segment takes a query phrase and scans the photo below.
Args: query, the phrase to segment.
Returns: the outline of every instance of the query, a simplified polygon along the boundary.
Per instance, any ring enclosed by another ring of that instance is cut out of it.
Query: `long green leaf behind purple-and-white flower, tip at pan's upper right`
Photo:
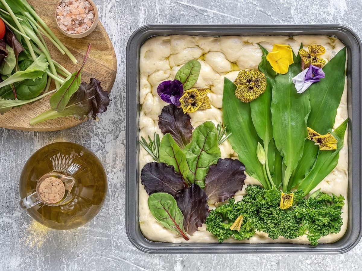
[[[337,108],[345,85],[346,47],[340,50],[324,67],[325,78],[308,88],[311,112],[307,126],[320,134],[331,132],[336,119]],[[299,182],[311,170],[318,154],[319,147],[313,141],[304,144],[303,156],[293,172],[289,189]]]

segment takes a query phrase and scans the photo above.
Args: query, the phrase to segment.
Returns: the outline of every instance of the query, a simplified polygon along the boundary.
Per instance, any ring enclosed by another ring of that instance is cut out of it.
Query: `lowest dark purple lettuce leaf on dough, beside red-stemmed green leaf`
[[[176,195],[177,206],[184,215],[185,231],[191,236],[209,215],[207,199],[205,191],[196,184],[182,189]]]

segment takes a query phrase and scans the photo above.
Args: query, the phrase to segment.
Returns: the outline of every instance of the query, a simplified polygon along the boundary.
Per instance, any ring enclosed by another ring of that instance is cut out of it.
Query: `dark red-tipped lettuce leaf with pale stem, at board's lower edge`
[[[74,116],[80,120],[89,116],[95,120],[98,113],[107,111],[110,101],[109,93],[102,89],[101,82],[90,78],[90,83],[82,82],[80,84],[78,91],[73,94],[63,112],[50,109],[30,120],[30,125],[68,116]]]

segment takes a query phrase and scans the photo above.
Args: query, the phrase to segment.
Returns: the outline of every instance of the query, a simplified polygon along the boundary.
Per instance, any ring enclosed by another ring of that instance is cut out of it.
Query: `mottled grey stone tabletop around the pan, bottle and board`
[[[361,270],[362,245],[343,255],[149,255],[125,232],[126,43],[149,23],[338,23],[362,35],[360,0],[94,0],[118,57],[109,110],[100,122],[65,131],[0,128],[0,270]],[[92,150],[109,194],[97,217],[72,231],[35,223],[18,207],[18,179],[29,156],[54,141]]]

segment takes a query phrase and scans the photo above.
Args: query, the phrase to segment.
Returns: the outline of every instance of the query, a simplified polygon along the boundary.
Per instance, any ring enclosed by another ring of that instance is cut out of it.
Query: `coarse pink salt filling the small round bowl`
[[[88,0],[63,0],[56,9],[58,24],[69,34],[87,31],[94,22],[93,7]]]

